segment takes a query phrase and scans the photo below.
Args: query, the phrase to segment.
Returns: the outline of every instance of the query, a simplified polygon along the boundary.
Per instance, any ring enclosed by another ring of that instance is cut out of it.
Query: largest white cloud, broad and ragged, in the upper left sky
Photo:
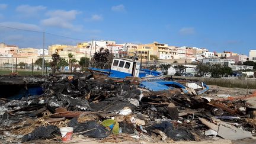
[[[76,15],[78,15],[80,13],[81,12],[76,11],[76,10],[49,11],[46,13],[46,15],[49,16],[49,18],[41,20],[41,24],[44,26],[50,26],[50,27],[60,27],[60,28],[68,28],[68,29],[72,29],[72,30],[78,30],[79,27],[77,25],[73,25],[72,21],[75,20]]]

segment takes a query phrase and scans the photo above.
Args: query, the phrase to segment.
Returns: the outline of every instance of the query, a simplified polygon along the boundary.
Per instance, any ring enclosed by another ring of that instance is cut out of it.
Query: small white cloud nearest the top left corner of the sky
[[[16,8],[16,11],[29,16],[29,15],[36,15],[37,12],[42,11],[44,9],[46,9],[46,7],[42,5],[38,5],[38,6],[20,5]]]

